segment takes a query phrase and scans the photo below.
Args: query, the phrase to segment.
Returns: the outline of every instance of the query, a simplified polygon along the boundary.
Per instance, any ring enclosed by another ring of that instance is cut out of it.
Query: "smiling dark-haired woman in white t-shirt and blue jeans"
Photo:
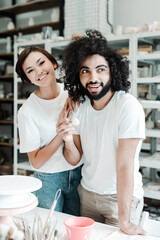
[[[24,49],[19,56],[17,74],[23,83],[37,86],[18,111],[20,152],[27,153],[34,176],[42,181],[42,188],[36,192],[38,206],[50,208],[60,188],[56,210],[78,216],[81,163],[75,167],[67,163],[62,154],[63,140],[56,134],[56,123],[68,97],[63,84],[56,80],[57,67],[55,58],[37,46]],[[72,131],[70,125],[68,131]]]

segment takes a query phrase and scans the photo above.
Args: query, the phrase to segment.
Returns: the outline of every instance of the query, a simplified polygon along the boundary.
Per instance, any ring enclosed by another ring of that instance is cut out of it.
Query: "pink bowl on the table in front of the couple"
[[[68,240],[89,240],[94,220],[87,217],[71,217],[64,221]]]

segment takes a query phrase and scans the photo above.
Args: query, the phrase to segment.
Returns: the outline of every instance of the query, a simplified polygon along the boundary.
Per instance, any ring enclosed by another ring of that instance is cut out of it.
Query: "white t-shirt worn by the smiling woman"
[[[67,91],[59,84],[60,94],[55,99],[44,100],[32,93],[18,111],[20,152],[27,153],[48,145],[57,135],[56,124],[64,106]],[[54,155],[38,169],[39,172],[55,173],[74,169],[63,156],[63,144]],[[33,168],[34,169],[34,168]],[[36,170],[36,169],[34,169]]]

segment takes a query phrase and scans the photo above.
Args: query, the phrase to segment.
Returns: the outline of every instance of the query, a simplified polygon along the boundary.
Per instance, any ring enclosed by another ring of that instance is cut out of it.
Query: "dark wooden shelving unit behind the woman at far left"
[[[45,10],[45,9],[52,9],[58,7],[59,8],[59,21],[52,22],[50,20],[50,16],[48,17],[48,22],[42,22],[40,24],[36,24],[33,26],[22,26],[22,27],[17,27],[16,26],[16,20],[17,16],[23,13],[31,13],[34,14],[34,11],[37,10]],[[0,62],[3,62],[6,64],[6,62],[9,62],[13,65],[13,58],[15,54],[13,53],[13,42],[15,36],[18,36],[19,33],[23,35],[29,35],[29,34],[35,34],[35,33],[41,33],[42,27],[44,26],[50,26],[52,27],[53,30],[58,30],[59,35],[63,36],[63,28],[64,28],[64,14],[63,14],[63,7],[64,7],[64,0],[35,0],[32,2],[26,2],[23,4],[16,4],[16,0],[12,0],[12,6],[11,7],[6,7],[6,8],[1,8],[0,9],[0,20],[3,21],[4,17],[9,18],[12,20],[15,24],[15,28],[12,30],[7,30],[5,29],[4,31],[0,32],[0,38],[1,39],[6,39],[7,37],[11,38],[11,51],[8,52],[7,48],[4,50],[4,52],[0,53]],[[6,41],[6,40],[4,40]],[[43,42],[43,40],[42,40]],[[27,43],[28,45],[28,43]],[[46,46],[47,48],[47,46]],[[15,61],[14,61],[15,62]],[[2,64],[1,64],[2,66]],[[1,66],[0,66],[0,84],[4,84],[6,86],[7,91],[10,92],[15,92],[17,90],[14,89],[14,79],[15,76],[13,74],[7,74],[4,71],[1,71]],[[9,90],[8,90],[9,89]],[[17,95],[16,95],[17,96]],[[9,142],[1,142],[0,140],[0,153],[1,151],[4,152],[4,155],[6,157],[5,163],[7,167],[5,168],[4,166],[0,165],[0,174],[12,174],[13,173],[13,161],[15,157],[13,157],[13,146],[16,144],[17,145],[17,138],[16,140],[13,140],[13,126],[15,123],[15,120],[10,119],[8,117],[13,116],[13,105],[15,108],[14,104],[14,99],[12,97],[7,97],[7,92],[5,96],[2,96],[0,98],[0,110],[4,110],[9,112],[6,117],[1,117],[2,114],[0,114],[0,137],[1,135],[5,136],[7,135],[9,137]],[[22,104],[24,99],[16,101],[16,104]],[[6,110],[7,109],[7,110]],[[8,110],[9,109],[9,110]],[[15,111],[14,111],[15,113]],[[16,125],[16,124],[15,124]],[[2,130],[1,130],[2,129]],[[4,139],[3,139],[4,140]],[[5,139],[8,141],[8,138]],[[14,142],[14,144],[13,144]],[[16,146],[15,146],[16,147]],[[14,158],[14,159],[13,159]]]

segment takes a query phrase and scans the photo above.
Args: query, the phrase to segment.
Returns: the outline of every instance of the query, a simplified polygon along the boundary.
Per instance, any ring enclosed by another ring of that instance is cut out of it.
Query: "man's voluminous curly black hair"
[[[109,64],[111,74],[111,89],[113,91],[130,88],[129,61],[116,50],[108,46],[105,37],[99,31],[86,30],[86,36],[76,38],[63,52],[62,71],[64,71],[64,87],[74,101],[85,100],[85,93],[80,83],[79,70],[82,62],[91,55],[103,56]]]

